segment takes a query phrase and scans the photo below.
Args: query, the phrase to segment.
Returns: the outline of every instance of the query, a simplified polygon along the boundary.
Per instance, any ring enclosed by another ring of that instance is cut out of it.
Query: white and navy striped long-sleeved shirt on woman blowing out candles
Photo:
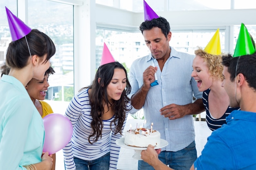
[[[128,103],[126,107],[131,108],[132,106]],[[115,135],[115,125],[113,123],[110,125],[115,116],[109,120],[103,120],[102,137],[99,137],[98,141],[93,144],[88,141],[88,137],[93,131],[91,128],[92,116],[88,88],[73,97],[67,107],[65,116],[70,119],[73,125],[72,139],[63,148],[66,170],[76,169],[74,157],[91,161],[106,155],[108,152],[110,152],[109,169],[116,170],[120,147],[117,146],[115,141],[121,138],[121,134],[117,133]],[[127,116],[128,112],[126,113],[123,128],[126,124]]]

